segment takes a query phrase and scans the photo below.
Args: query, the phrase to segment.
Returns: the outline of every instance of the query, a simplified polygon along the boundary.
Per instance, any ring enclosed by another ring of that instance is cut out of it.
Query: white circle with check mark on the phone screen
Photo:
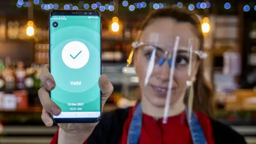
[[[69,68],[84,67],[89,61],[89,57],[90,53],[87,46],[78,41],[69,42],[62,50],[62,60]]]

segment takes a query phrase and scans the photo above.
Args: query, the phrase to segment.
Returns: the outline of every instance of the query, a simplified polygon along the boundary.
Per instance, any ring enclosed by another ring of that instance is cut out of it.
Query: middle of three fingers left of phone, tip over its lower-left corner
[[[43,108],[50,114],[54,116],[58,116],[61,113],[61,109],[58,105],[56,105],[50,98],[49,91],[43,86],[38,91],[38,97]]]

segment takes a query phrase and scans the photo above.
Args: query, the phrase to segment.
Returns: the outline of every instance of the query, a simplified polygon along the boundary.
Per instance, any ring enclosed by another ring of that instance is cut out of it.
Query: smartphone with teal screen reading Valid
[[[101,116],[101,14],[57,10],[50,14],[51,99],[61,108],[55,123],[96,123]]]

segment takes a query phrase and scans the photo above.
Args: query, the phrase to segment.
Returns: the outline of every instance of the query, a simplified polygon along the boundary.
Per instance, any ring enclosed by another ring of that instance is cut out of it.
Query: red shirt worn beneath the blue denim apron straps
[[[196,113],[198,121],[202,127],[205,135],[205,139],[208,144],[214,144],[212,127],[210,119],[207,118],[201,112]],[[127,117],[124,127],[123,135],[119,144],[127,144],[127,134],[130,127],[130,122],[133,116],[133,109],[131,108],[129,116]],[[55,133],[50,144],[57,144],[58,142],[58,131]],[[85,142],[86,143],[86,142]],[[162,123],[162,119],[156,121],[153,117],[143,114],[142,117],[142,130],[140,135],[140,140],[138,144],[169,144],[169,143],[179,143],[179,144],[193,144],[191,139],[189,126],[186,121],[185,111],[177,116],[169,117],[167,124]]]

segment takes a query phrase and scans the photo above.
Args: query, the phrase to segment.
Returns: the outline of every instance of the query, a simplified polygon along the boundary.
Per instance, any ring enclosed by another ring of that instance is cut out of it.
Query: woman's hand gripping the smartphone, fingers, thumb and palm
[[[45,65],[41,71],[41,82],[44,85],[39,91],[38,96],[43,106],[42,111],[42,120],[47,127],[53,125],[53,120],[50,116],[58,116],[61,113],[61,109],[56,105],[50,98],[49,91],[52,91],[55,88],[55,81],[49,71],[49,65]],[[90,83],[90,82],[88,82]],[[109,98],[110,94],[113,92],[113,85],[108,81],[106,75],[102,75],[99,78],[99,87],[101,90],[101,105],[102,108],[105,105],[105,102]],[[70,95],[71,96],[71,95]],[[77,132],[90,131],[94,129],[97,123],[85,123],[85,124],[58,124],[61,129],[65,131],[74,130]]]

